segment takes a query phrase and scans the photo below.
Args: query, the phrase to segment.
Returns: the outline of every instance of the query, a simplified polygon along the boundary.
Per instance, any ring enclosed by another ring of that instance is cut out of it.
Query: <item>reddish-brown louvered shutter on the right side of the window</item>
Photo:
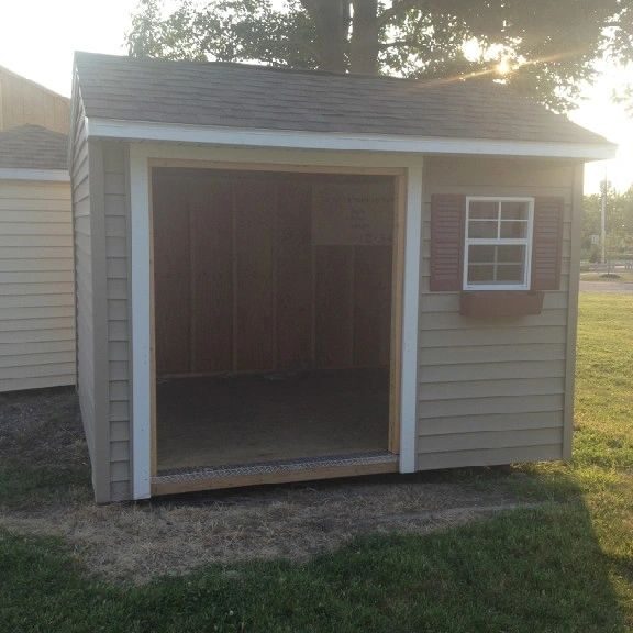
[[[534,200],[532,290],[558,290],[563,260],[563,198]]]

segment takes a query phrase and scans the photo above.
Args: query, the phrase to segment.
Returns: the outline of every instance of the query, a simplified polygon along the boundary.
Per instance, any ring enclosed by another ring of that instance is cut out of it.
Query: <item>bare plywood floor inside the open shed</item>
[[[158,471],[387,451],[385,369],[157,385]]]

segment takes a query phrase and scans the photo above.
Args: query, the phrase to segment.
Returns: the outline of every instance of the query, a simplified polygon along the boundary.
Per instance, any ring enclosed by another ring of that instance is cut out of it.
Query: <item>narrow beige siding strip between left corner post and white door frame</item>
[[[127,148],[103,144],[108,303],[108,422],[112,501],[132,495]]]

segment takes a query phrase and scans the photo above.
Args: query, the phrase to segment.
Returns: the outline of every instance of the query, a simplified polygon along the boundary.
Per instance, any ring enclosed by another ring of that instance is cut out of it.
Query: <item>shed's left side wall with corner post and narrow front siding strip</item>
[[[127,149],[87,141],[74,101],[77,388],[98,502],[130,499]]]

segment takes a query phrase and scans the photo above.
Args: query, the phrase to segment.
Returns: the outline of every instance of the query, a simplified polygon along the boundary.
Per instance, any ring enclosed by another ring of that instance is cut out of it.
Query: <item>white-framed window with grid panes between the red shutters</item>
[[[533,198],[466,198],[464,290],[528,290]]]

